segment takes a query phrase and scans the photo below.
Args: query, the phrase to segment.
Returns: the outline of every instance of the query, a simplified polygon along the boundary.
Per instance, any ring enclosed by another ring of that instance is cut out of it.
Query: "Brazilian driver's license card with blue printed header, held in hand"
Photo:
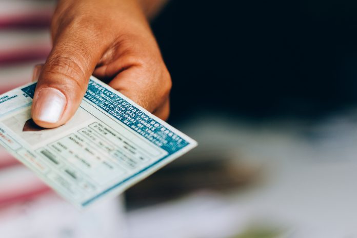
[[[197,145],[95,77],[67,124],[38,127],[35,87],[0,95],[0,145],[77,207],[123,192]]]

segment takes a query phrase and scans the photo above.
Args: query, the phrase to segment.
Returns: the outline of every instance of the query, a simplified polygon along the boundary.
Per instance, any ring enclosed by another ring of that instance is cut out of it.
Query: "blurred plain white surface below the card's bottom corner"
[[[127,237],[119,200],[79,212],[53,193],[2,208],[0,234],[4,238]]]

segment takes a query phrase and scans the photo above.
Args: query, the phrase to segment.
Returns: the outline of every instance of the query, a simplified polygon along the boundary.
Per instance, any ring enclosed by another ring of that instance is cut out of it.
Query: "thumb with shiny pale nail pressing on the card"
[[[57,37],[33,96],[31,114],[38,126],[54,128],[70,120],[102,54],[93,37],[78,31],[69,30]]]

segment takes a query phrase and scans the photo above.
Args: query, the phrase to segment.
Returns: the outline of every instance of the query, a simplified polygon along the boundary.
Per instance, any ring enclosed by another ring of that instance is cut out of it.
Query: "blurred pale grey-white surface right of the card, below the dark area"
[[[182,128],[200,143],[195,153],[236,153],[261,166],[261,182],[130,212],[130,237],[230,237],[255,221],[285,230],[284,237],[357,237],[356,118],[351,112],[314,125],[197,120]]]

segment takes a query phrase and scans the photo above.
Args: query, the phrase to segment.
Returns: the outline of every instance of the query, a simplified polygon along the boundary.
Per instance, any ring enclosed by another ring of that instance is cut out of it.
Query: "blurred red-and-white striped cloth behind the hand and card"
[[[31,81],[35,64],[45,61],[53,1],[0,2],[0,93]],[[49,188],[0,148],[0,206],[29,199]]]

